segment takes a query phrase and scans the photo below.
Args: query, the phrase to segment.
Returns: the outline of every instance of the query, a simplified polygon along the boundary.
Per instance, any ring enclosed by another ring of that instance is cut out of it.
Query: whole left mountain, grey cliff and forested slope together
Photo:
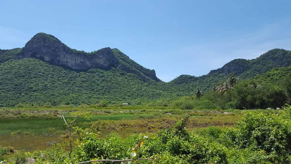
[[[77,51],[38,33],[22,49],[0,50],[0,106],[145,102],[166,96],[155,70],[118,49]]]

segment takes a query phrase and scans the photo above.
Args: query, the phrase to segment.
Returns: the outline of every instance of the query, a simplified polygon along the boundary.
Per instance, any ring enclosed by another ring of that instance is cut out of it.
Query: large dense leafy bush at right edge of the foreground
[[[270,162],[286,163],[291,150],[289,107],[283,114],[247,113],[236,125],[219,135],[227,147],[262,150]]]

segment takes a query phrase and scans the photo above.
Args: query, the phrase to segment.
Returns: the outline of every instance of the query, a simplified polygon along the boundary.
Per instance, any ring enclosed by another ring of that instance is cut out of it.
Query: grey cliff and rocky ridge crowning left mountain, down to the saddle
[[[78,51],[69,48],[55,36],[45,33],[33,36],[19,51],[16,60],[35,58],[71,70],[88,70],[90,68],[109,70],[114,67],[121,74],[122,72],[134,73],[142,80],[159,81],[155,70],[142,67],[117,49],[107,47],[91,53]]]

